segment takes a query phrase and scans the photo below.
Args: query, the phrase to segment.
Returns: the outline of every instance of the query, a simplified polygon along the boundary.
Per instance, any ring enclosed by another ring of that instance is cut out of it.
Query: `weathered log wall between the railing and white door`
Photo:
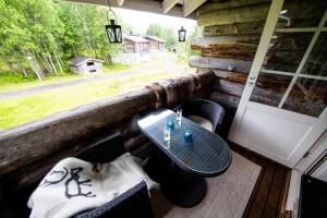
[[[226,135],[239,106],[269,5],[270,0],[229,0],[207,2],[197,10],[203,37],[194,38],[191,48],[199,50],[201,55],[191,57],[189,63],[198,68],[198,73],[215,73],[209,99],[226,110]]]

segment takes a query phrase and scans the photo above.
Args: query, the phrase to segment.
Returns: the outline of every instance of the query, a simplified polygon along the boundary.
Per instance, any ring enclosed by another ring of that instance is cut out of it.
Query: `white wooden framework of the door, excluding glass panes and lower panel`
[[[275,29],[275,26],[278,22],[279,13],[280,13],[282,5],[283,5],[283,0],[272,0],[272,2],[271,2],[269,13],[268,13],[268,16],[266,20],[266,24],[265,24],[265,27],[264,27],[264,31],[262,34],[262,38],[261,38],[261,41],[259,41],[250,74],[249,74],[249,77],[247,77],[247,81],[245,83],[245,87],[242,93],[242,97],[241,97],[237,113],[234,116],[234,120],[233,120],[232,126],[230,129],[228,138],[231,141],[233,141],[233,138],[237,138],[237,130],[238,130],[238,128],[240,128],[242,120],[243,120],[244,112],[245,112],[246,108],[249,108],[249,107],[256,108],[258,110],[262,109],[262,110],[265,110],[265,112],[272,113],[276,116],[281,116],[281,117],[286,116],[288,118],[292,118],[300,122],[310,124],[311,125],[310,130],[305,133],[305,135],[302,137],[302,141],[300,141],[298,146],[288,156],[288,158],[286,158],[286,159],[280,159],[278,157],[275,158],[283,165],[293,167],[303,157],[303,155],[310,149],[310,147],[316,142],[316,140],[324,133],[324,131],[327,129],[327,108],[325,108],[325,110],[319,116],[319,118],[314,118],[314,117],[301,114],[298,112],[288,111],[288,110],[284,110],[281,108],[282,104],[284,102],[286,98],[288,97],[288,95],[289,95],[291,88],[293,87],[298,77],[307,77],[307,78],[315,78],[315,80],[323,80],[323,81],[327,80],[326,76],[301,74],[301,70],[303,69],[304,63],[307,60],[307,57],[311,53],[319,34],[322,32],[327,31],[327,28],[324,27],[324,24],[327,20],[327,11],[325,11],[325,14],[324,14],[318,27]],[[279,33],[314,32],[312,40],[303,56],[302,61],[300,62],[295,73],[262,69],[262,64],[263,64],[266,53],[269,49],[270,39],[271,39],[275,31],[279,32]],[[251,94],[253,92],[255,82],[256,82],[259,73],[274,73],[274,74],[293,76],[291,80],[291,83],[289,84],[289,87],[287,88],[287,92],[283,95],[282,100],[280,101],[280,104],[277,108],[250,101]],[[253,147],[252,145],[246,145],[246,147],[249,147],[250,149],[259,152],[261,154],[267,155],[268,157],[274,156],[274,154],[269,154],[268,150],[264,150],[258,147]]]

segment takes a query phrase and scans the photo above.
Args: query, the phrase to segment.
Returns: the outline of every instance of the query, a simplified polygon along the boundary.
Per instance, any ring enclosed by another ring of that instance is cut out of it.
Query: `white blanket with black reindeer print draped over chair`
[[[156,185],[126,153],[112,162],[99,165],[73,157],[58,162],[28,199],[31,217],[71,217],[96,208],[145,181]]]

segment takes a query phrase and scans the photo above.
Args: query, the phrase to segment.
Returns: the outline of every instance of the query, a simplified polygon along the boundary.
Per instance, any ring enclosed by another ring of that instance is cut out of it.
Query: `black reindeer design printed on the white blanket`
[[[93,194],[92,192],[83,193],[82,185],[84,186],[93,186],[90,183],[90,179],[81,180],[80,172],[83,171],[83,167],[76,167],[76,168],[65,168],[62,167],[62,170],[52,170],[43,181],[43,183],[39,185],[40,187],[47,187],[49,185],[56,185],[60,182],[64,181],[64,195],[66,198],[72,198],[76,196],[84,196],[84,197],[95,197],[96,194]],[[51,180],[51,177],[56,177],[58,174],[61,174],[59,179]]]

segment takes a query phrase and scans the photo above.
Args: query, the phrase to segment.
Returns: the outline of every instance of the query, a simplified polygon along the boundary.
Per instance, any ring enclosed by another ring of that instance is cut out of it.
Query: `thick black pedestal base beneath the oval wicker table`
[[[193,207],[205,197],[206,181],[182,170],[160,152],[149,159],[147,169],[149,177],[160,183],[162,193],[177,206]]]

